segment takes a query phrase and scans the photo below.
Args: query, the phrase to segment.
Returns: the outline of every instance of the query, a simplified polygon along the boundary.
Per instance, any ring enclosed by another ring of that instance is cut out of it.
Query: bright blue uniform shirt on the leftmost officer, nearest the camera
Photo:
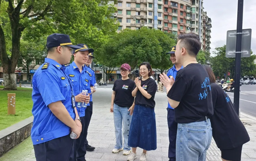
[[[72,84],[69,83],[64,72],[66,67],[49,58],[45,58],[44,61],[45,63],[37,69],[32,79],[33,145],[70,133],[70,127],[61,122],[49,109],[50,103],[61,101],[73,119],[76,115],[71,102]]]

